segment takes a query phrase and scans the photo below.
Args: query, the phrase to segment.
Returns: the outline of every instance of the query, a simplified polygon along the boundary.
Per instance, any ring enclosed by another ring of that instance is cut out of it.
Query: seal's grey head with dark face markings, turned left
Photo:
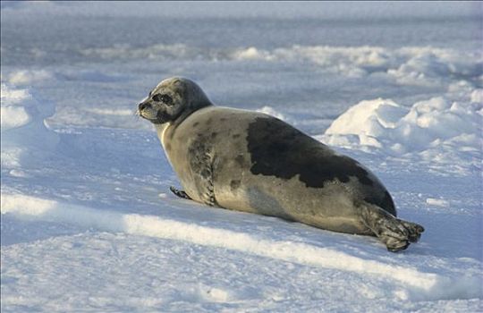
[[[161,81],[138,105],[140,116],[154,124],[181,123],[191,113],[212,106],[192,80],[174,77]]]

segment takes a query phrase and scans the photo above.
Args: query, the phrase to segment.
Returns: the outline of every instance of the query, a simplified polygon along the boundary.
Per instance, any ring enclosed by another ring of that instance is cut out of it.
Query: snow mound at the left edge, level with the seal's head
[[[46,157],[59,140],[44,122],[55,106],[38,102],[28,89],[2,84],[1,94],[2,167]]]

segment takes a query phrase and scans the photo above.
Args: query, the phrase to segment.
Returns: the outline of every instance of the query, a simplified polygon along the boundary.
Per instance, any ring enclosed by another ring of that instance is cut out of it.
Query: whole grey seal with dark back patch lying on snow
[[[424,231],[396,217],[389,192],[351,157],[273,116],[214,106],[191,80],[161,81],[138,111],[155,125],[182,198],[375,235],[390,251]]]

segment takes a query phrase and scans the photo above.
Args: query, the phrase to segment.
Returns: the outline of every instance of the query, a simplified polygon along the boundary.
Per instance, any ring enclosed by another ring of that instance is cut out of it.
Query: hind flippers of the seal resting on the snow
[[[424,232],[423,226],[396,218],[381,207],[365,201],[359,207],[362,223],[386,244],[389,251],[405,250],[411,242],[417,242]]]

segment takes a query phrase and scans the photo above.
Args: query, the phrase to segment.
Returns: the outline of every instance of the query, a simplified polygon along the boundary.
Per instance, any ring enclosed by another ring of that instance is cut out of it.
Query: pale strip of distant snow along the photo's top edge
[[[69,3],[56,1],[38,1],[30,5],[21,5],[14,1],[2,2],[2,9],[20,11],[24,14],[49,14],[67,16],[103,16],[103,17],[174,17],[174,18],[292,18],[301,16],[305,18],[323,18],[324,20],[347,19],[391,19],[391,18],[414,18],[414,17],[448,17],[448,16],[475,16],[479,10],[478,4],[421,4],[418,10],[414,10],[411,4],[367,4],[355,6],[347,4],[142,4],[140,1],[130,1],[116,5],[94,3]]]

